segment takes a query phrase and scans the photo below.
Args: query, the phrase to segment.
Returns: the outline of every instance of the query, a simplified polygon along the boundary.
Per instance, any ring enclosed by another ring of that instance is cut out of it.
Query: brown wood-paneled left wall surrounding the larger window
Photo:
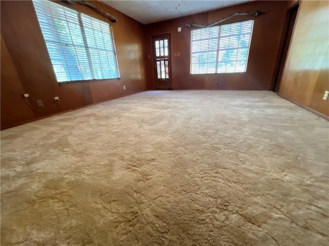
[[[118,18],[113,32],[121,79],[59,86],[32,1],[0,3],[1,129],[147,89],[142,56],[143,25],[132,18],[94,1],[94,5]],[[88,7],[75,4],[74,8],[108,21]],[[45,108],[29,108],[22,97],[24,93],[30,94],[32,106],[37,107],[36,100],[41,99]],[[54,96],[60,97],[60,104],[54,103]]]

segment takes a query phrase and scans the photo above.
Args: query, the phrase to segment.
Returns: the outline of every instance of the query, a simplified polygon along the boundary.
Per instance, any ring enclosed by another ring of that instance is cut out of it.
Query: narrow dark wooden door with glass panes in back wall
[[[155,89],[171,90],[170,34],[155,36],[152,43]]]

